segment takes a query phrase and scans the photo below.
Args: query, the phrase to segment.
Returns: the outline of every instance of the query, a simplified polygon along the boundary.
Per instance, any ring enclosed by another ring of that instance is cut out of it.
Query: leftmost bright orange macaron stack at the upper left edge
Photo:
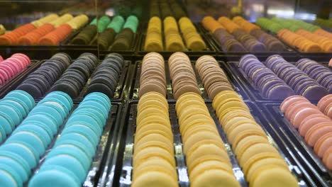
[[[32,23],[27,23],[23,26],[20,26],[9,33],[5,33],[4,35],[0,35],[0,45],[15,45],[18,42],[18,38],[27,33],[35,30],[35,27]]]

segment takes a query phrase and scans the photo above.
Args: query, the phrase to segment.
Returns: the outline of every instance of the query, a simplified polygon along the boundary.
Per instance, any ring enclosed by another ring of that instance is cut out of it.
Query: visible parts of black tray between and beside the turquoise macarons
[[[74,105],[71,113],[74,111],[75,108],[77,108],[77,104]],[[100,176],[104,174],[104,168],[106,168],[106,163],[108,163],[108,159],[113,157],[114,152],[114,140],[116,140],[116,129],[118,129],[118,122],[121,117],[121,103],[112,103],[111,111],[109,113],[109,118],[106,121],[106,125],[104,126],[104,131],[101,135],[99,144],[96,149],[96,154],[94,155],[92,165],[90,166],[90,169],[87,173],[87,178],[85,179],[84,183],[82,184],[83,187],[93,187],[96,186],[97,183],[99,183]],[[68,115],[68,118],[69,116]],[[67,119],[68,119],[67,118]],[[67,121],[65,120],[65,123]],[[60,130],[58,131],[58,134],[55,135],[52,142],[46,149],[45,154],[40,157],[40,161],[38,166],[33,169],[33,173],[35,174],[38,172],[38,169],[45,161],[46,156],[48,153],[52,150],[53,145],[55,145],[55,142],[57,140],[57,137],[61,135],[62,129],[65,127],[65,123],[60,126]],[[31,175],[32,176],[32,175]],[[29,179],[30,180],[30,179]],[[28,181],[23,185],[25,187],[28,186]]]

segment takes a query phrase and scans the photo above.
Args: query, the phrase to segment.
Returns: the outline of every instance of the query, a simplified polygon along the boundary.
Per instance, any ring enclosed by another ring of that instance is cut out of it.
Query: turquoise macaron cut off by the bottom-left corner
[[[0,184],[6,187],[21,187],[23,179],[11,166],[0,164]]]

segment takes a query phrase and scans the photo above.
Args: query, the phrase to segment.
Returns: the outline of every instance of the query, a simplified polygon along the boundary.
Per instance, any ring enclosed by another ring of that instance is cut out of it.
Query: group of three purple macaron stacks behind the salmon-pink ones
[[[283,100],[297,94],[319,101],[332,91],[331,70],[313,60],[291,64],[272,55],[262,63],[254,55],[245,55],[239,66],[264,98]]]

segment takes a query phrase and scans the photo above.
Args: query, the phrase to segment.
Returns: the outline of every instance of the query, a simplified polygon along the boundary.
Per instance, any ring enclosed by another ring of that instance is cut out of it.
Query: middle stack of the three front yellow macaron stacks
[[[204,99],[182,94],[175,105],[190,186],[240,186]]]

